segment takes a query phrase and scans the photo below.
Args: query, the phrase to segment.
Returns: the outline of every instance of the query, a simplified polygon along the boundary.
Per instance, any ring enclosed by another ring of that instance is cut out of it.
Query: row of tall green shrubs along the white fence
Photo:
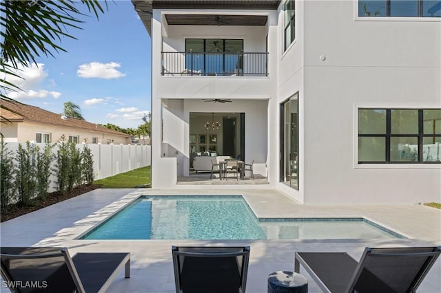
[[[44,149],[26,142],[17,151],[8,150],[1,138],[1,211],[11,204],[33,205],[34,199],[45,197],[50,176],[55,175],[57,190],[64,194],[83,184],[92,184],[93,156],[87,144],[80,150],[65,136],[56,144],[45,144]],[[52,149],[57,146],[57,154]],[[51,168],[51,166],[53,166]]]

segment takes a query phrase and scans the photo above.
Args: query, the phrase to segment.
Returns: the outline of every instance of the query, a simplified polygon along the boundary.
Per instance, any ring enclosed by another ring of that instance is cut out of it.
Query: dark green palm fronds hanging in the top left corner
[[[6,80],[6,76],[20,77],[13,69],[37,63],[35,58],[42,54],[66,51],[59,45],[62,37],[75,39],[69,30],[81,29],[83,23],[79,16],[85,14],[78,5],[85,5],[97,19],[104,12],[98,0],[0,1],[0,76],[5,76],[0,78],[0,98],[12,100],[7,93],[21,90]]]

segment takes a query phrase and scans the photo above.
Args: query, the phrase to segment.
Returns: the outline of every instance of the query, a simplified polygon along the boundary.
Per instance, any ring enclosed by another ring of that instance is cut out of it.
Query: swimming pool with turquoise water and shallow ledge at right
[[[391,239],[364,218],[258,219],[241,196],[142,196],[81,239]]]

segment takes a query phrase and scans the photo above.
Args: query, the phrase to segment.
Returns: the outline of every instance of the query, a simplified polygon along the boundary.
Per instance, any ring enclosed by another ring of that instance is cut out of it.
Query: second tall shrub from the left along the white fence
[[[36,189],[36,168],[35,168],[35,150],[26,142],[26,148],[19,144],[16,155],[17,166],[15,168],[15,182],[18,188],[19,202],[29,205],[35,196]]]

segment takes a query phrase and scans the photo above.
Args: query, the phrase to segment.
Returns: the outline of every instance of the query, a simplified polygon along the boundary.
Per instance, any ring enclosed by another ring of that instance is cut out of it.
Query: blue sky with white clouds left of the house
[[[88,122],[134,129],[143,124],[151,109],[151,39],[130,0],[107,6],[98,20],[93,12],[81,17],[82,30],[68,28],[76,40],[61,39],[67,53],[36,58],[21,71],[25,80],[7,78],[25,90],[8,96],[54,113],[73,102]]]

